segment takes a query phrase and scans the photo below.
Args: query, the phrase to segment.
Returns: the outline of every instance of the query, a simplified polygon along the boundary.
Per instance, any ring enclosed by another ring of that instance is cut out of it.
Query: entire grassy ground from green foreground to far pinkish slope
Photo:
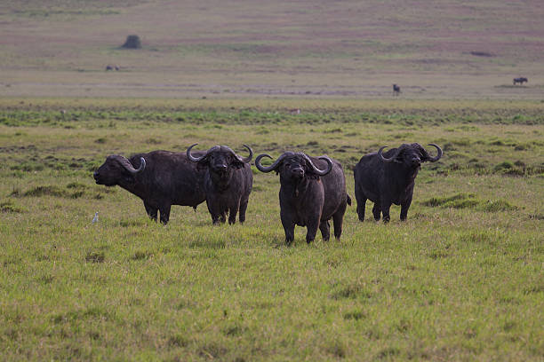
[[[0,360],[543,361],[542,19],[541,0],[0,2]],[[408,142],[444,149],[408,221],[360,223],[353,166]],[[339,160],[341,240],[285,246],[256,169],[246,223],[219,227],[205,205],[156,224],[92,179],[194,143]]]

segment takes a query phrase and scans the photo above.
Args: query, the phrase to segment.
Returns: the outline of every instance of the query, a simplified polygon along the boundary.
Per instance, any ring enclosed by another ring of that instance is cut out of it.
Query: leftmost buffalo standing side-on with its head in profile
[[[168,224],[172,205],[196,209],[204,202],[204,173],[185,153],[153,151],[130,159],[109,155],[93,177],[98,185],[119,185],[140,197],[149,217],[156,221],[160,211],[161,223]]]

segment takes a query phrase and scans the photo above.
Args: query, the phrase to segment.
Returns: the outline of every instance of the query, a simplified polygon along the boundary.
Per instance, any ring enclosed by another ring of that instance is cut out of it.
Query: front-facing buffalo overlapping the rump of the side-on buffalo
[[[224,224],[227,214],[228,224],[235,224],[238,212],[240,223],[244,223],[253,185],[252,148],[244,145],[250,153],[245,158],[228,146],[213,146],[204,154],[195,156],[191,149],[196,145],[188,147],[187,157],[199,169],[204,169],[204,193],[212,224]]]

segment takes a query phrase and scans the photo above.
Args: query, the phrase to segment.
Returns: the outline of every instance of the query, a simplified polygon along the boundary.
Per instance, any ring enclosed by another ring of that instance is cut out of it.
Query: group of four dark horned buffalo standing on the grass
[[[144,203],[148,216],[154,220],[160,212],[160,221],[167,224],[172,205],[190,206],[194,209],[206,201],[212,224],[240,223],[245,221],[250,193],[252,192],[251,161],[253,150],[242,157],[228,146],[213,146],[207,151],[185,153],[153,151],[138,153],[131,158],[109,155],[93,177],[98,185],[119,185],[133,193]],[[389,221],[391,204],[401,206],[400,219],[406,220],[412,203],[413,186],[422,162],[435,162],[443,155],[436,148],[431,156],[420,144],[403,144],[383,153],[364,155],[354,170],[357,215],[364,221],[367,200],[374,203],[372,214],[376,221]],[[280,178],[280,219],[284,226],[285,241],[294,239],[295,225],[306,226],[306,241],[315,240],[317,229],[323,240],[330,238],[332,219],[334,237],[340,240],[342,222],[351,198],[346,191],[346,177],[339,161],[323,155],[312,157],[302,152],[284,152],[270,166],[261,164],[267,153],[255,158],[261,172],[275,171]]]

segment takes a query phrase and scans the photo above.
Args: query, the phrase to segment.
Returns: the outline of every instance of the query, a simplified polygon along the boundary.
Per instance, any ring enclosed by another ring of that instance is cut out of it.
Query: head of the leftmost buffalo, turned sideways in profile
[[[140,157],[140,167],[134,169],[132,163],[123,156],[112,154],[94,171],[92,175],[98,185],[115,186],[134,182],[134,175],[140,174],[146,168],[146,160]]]

